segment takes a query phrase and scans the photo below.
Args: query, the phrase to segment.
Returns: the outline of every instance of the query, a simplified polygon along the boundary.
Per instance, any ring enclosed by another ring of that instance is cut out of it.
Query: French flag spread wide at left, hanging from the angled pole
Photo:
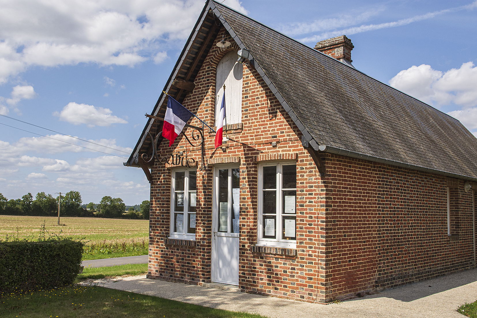
[[[192,113],[186,107],[179,104],[174,98],[169,96],[167,100],[166,116],[162,126],[162,136],[169,139],[169,147],[172,146],[177,135],[179,135],[192,117]]]

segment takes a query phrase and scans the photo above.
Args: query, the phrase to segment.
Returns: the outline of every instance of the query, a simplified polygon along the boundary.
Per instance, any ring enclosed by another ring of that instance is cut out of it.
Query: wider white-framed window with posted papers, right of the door
[[[259,165],[259,245],[296,247],[296,164]]]

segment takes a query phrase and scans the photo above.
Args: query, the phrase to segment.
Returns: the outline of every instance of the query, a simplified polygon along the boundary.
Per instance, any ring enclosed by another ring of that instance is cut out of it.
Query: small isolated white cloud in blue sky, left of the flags
[[[90,128],[94,126],[108,127],[111,124],[127,124],[127,121],[111,115],[112,113],[109,108],[71,102],[63,107],[61,113],[54,112],[53,116],[58,116],[60,120],[73,125],[86,124]]]

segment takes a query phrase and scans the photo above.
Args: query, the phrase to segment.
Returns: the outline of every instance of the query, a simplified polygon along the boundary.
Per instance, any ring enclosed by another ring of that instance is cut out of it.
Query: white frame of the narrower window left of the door
[[[197,178],[197,170],[196,169],[174,169],[171,171],[171,198],[170,198],[170,224],[169,224],[169,229],[170,229],[170,238],[178,238],[178,239],[183,239],[183,240],[191,240],[195,241],[196,240],[196,233],[187,233],[189,229],[189,217],[188,214],[196,214],[197,212],[189,212],[188,206],[189,206],[189,193],[191,192],[196,192],[196,207],[197,207],[197,190],[189,190],[189,172],[190,171],[195,171],[196,172],[196,178]],[[185,172],[184,173],[184,191],[176,191],[176,173],[177,172]],[[197,179],[196,179],[197,182]],[[197,183],[196,183],[197,185]],[[196,186],[197,189],[197,186]],[[175,208],[175,193],[176,192],[184,192],[184,211],[174,211]],[[186,195],[187,193],[187,195]],[[184,219],[183,219],[183,224],[182,224],[182,233],[180,232],[174,232],[174,222],[175,222],[175,214],[183,214]],[[197,214],[196,214],[197,216]],[[197,224],[197,219],[196,219],[196,224]],[[197,229],[197,225],[196,225]]]

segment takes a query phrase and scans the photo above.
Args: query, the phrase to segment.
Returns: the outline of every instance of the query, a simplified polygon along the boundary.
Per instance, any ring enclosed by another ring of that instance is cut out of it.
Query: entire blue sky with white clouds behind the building
[[[0,116],[0,193],[148,200],[143,171],[123,167],[121,157],[135,146],[204,1],[0,3],[0,114],[109,147]],[[224,4],[311,47],[347,35],[357,69],[477,135],[477,1]]]

